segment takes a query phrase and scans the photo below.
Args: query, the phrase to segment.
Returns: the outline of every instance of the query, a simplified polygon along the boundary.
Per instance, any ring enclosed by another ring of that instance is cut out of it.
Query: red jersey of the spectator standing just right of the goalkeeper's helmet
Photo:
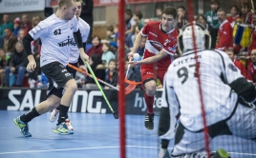
[[[227,20],[224,20],[218,30],[218,43],[215,49],[227,49],[233,47],[233,28]]]

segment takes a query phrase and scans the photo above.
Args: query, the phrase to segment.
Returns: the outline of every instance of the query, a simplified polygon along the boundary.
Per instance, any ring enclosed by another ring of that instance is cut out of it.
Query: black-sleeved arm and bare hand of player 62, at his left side
[[[28,33],[24,37],[24,39],[22,40],[23,46],[24,46],[24,50],[27,53],[28,60],[29,60],[29,64],[27,66],[27,70],[29,72],[32,72],[36,68],[36,62],[35,62],[34,57],[32,55],[32,46],[31,46],[31,43],[32,43],[33,40],[34,39],[32,38],[30,33]]]

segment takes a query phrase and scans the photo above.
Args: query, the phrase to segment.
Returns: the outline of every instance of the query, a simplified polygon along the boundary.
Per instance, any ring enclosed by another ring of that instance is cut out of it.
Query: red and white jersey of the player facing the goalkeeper
[[[147,36],[143,59],[154,56],[163,49],[170,55],[160,59],[155,66],[158,68],[166,68],[167,70],[174,59],[173,56],[178,47],[177,37],[179,33],[175,29],[165,32],[164,30],[161,30],[160,25],[160,21],[152,21],[142,28],[142,36]]]

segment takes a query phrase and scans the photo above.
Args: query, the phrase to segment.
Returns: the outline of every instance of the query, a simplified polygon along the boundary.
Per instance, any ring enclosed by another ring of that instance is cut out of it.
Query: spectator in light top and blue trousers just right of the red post
[[[135,28],[136,28],[136,22],[133,18],[132,10],[130,9],[125,10],[124,18],[125,18],[125,24],[126,24],[125,43],[127,47],[132,48],[134,46],[132,36],[134,35]]]

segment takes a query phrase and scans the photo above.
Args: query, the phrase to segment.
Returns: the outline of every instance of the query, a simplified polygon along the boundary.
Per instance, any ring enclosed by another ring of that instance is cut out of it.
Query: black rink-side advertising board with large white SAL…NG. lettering
[[[117,110],[117,90],[105,89],[106,97],[112,108]],[[146,113],[143,99],[144,91],[135,89],[125,96],[126,114]],[[158,115],[161,103],[161,91],[157,91],[154,103],[155,114]],[[46,89],[0,89],[1,110],[30,110],[46,99]],[[78,89],[70,107],[71,112],[112,113],[100,90]]]

